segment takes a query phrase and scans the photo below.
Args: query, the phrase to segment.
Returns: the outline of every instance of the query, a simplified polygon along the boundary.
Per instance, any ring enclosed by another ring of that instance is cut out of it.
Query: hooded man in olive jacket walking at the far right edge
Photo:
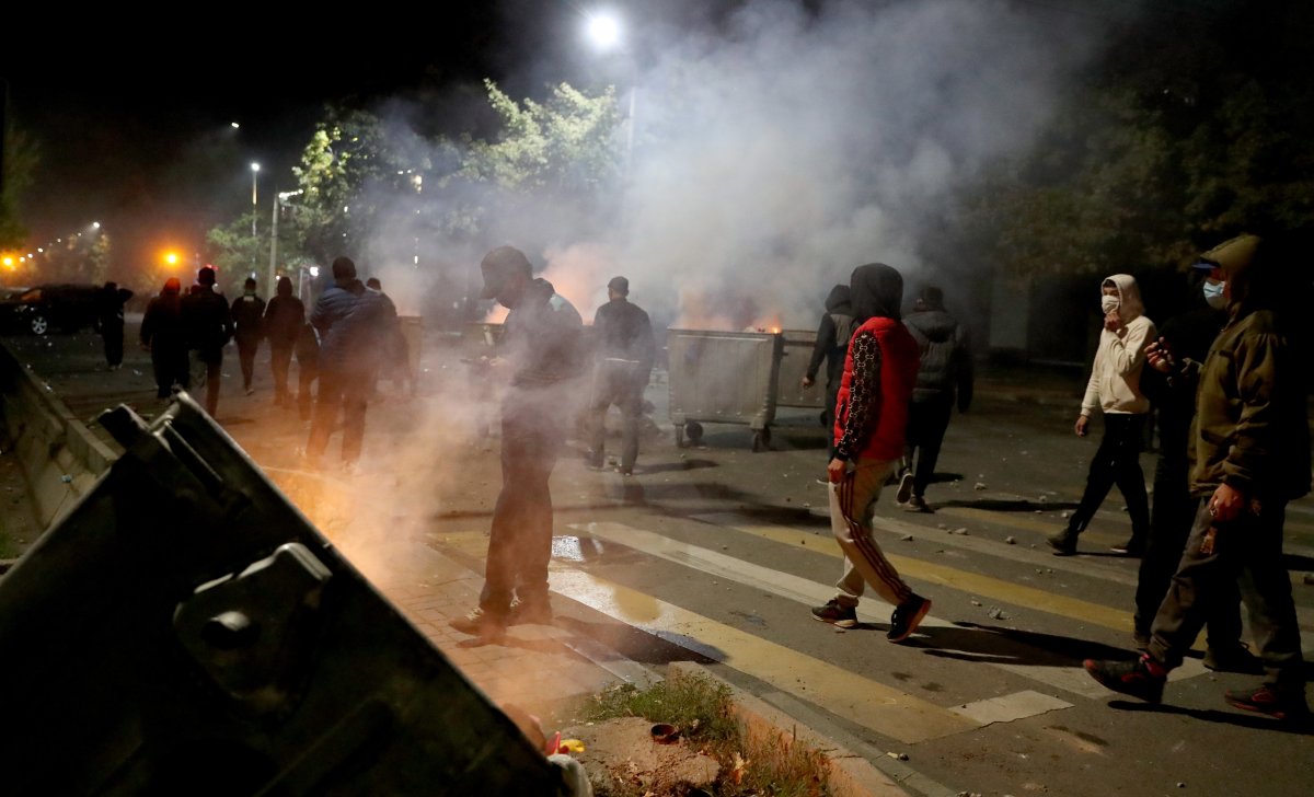
[[[1239,586],[1265,678],[1223,700],[1307,723],[1301,629],[1282,562],[1286,504],[1310,491],[1306,310],[1292,306],[1300,289],[1286,284],[1307,252],[1307,232],[1240,235],[1201,259],[1210,274],[1221,269],[1227,298],[1196,391],[1190,494],[1201,500],[1146,653],[1084,662],[1114,692],[1160,702],[1168,672]]]

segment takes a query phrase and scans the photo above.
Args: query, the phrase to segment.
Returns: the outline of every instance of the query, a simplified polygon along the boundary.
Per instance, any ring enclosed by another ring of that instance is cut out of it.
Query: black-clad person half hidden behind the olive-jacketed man
[[[1196,416],[1200,368],[1218,331],[1227,322],[1226,282],[1214,263],[1194,265],[1185,311],[1171,318],[1146,347],[1142,387],[1159,414],[1159,458],[1154,471],[1150,534],[1137,572],[1133,646],[1150,646],[1150,624],[1172,574],[1177,570],[1187,533],[1200,506],[1190,495],[1190,421]],[[1259,659],[1240,641],[1240,593],[1222,584],[1206,622],[1204,666],[1223,672],[1257,672]]]

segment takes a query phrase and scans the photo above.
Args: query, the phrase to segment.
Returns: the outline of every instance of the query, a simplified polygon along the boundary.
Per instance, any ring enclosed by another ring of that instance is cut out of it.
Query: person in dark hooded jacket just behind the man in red
[[[972,403],[972,353],[967,328],[945,311],[945,293],[934,285],[922,289],[904,326],[917,340],[921,368],[908,406],[908,442],[895,502],[909,512],[926,512],[926,486],[936,475],[954,399],[959,412]]]

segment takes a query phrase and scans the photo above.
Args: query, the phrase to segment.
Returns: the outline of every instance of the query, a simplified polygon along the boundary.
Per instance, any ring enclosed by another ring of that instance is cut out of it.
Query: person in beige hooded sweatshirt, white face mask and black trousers
[[[1141,390],[1141,372],[1146,364],[1146,345],[1156,336],[1155,326],[1143,314],[1141,289],[1131,274],[1113,274],[1104,280],[1100,309],[1104,311],[1104,328],[1074,431],[1077,437],[1085,437],[1091,415],[1100,410],[1104,414],[1104,439],[1091,460],[1081,503],[1068,519],[1067,528],[1047,538],[1056,557],[1076,553],[1077,536],[1091,524],[1114,485],[1127,503],[1131,538],[1112,550],[1141,555],[1150,532],[1150,499],[1141,470],[1150,399]]]

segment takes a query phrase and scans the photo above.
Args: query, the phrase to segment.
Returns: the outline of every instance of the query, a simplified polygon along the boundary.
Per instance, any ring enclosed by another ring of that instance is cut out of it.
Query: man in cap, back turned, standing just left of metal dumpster
[[[593,316],[595,358],[593,399],[589,404],[590,467],[602,467],[607,439],[607,410],[620,410],[620,473],[635,474],[639,458],[639,419],[644,411],[644,387],[657,356],[648,312],[629,301],[629,280],[607,282],[607,303]]]

